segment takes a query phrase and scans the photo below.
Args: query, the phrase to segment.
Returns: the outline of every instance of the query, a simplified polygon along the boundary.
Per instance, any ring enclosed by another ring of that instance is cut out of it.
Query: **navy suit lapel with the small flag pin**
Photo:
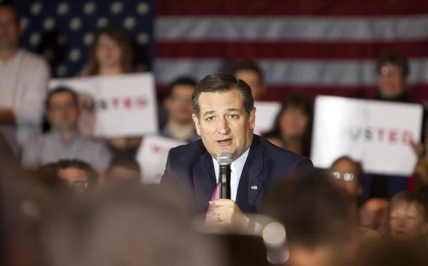
[[[260,138],[254,136],[238,186],[237,203],[245,213],[254,213],[255,203],[265,185],[266,171]]]

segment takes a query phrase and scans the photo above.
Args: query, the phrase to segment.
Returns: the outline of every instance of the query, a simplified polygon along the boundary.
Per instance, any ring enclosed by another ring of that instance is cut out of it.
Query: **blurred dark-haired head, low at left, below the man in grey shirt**
[[[60,160],[56,165],[58,177],[71,185],[77,193],[85,192],[98,182],[96,170],[81,160]]]

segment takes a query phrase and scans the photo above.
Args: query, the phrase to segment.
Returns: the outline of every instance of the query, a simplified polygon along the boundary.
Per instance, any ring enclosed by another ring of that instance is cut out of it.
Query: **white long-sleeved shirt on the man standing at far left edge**
[[[0,61],[0,109],[11,109],[16,118],[16,128],[0,127],[10,145],[16,145],[11,143],[14,140],[24,146],[41,133],[49,77],[46,61],[23,49],[8,61]]]

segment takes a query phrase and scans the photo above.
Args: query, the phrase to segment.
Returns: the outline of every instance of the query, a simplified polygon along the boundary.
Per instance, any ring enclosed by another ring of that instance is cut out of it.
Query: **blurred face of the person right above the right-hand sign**
[[[382,98],[396,98],[406,90],[407,77],[402,76],[399,66],[385,63],[380,70],[377,82]]]

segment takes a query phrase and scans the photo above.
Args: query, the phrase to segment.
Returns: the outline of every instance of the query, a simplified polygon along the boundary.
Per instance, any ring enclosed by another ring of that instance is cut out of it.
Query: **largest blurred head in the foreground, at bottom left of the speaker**
[[[46,224],[46,265],[220,265],[215,245],[190,230],[180,206],[157,186],[108,188],[79,198]]]

